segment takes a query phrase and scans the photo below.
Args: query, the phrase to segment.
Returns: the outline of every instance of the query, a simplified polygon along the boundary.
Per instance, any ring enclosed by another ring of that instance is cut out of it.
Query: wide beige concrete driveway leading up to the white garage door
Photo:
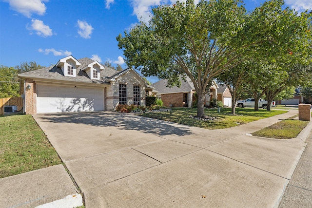
[[[134,114],[33,115],[98,207],[277,207],[306,143],[246,135],[290,117],[205,130]]]

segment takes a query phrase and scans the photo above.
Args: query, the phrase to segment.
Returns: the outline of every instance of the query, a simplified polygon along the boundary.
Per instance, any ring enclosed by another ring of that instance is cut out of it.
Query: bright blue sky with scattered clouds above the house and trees
[[[196,1],[196,0],[195,0]],[[197,0],[198,1],[198,0]],[[126,65],[116,37],[151,8],[176,0],[0,0],[0,64],[16,66],[36,61],[56,64],[72,55],[89,57],[113,66]],[[248,10],[264,0],[244,0]],[[285,0],[297,10],[312,8],[312,0]],[[156,78],[148,78],[155,82]]]

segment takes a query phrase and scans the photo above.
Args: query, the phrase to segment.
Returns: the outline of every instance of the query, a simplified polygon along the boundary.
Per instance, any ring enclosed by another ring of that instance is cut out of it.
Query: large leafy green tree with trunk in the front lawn
[[[118,47],[127,65],[144,76],[168,79],[170,85],[178,84],[179,75],[189,76],[201,117],[207,85],[243,61],[240,57],[309,56],[305,49],[311,46],[311,14],[298,15],[282,5],[282,0],[267,1],[251,13],[241,0],[162,5],[153,9],[149,24],[140,22],[119,34]]]

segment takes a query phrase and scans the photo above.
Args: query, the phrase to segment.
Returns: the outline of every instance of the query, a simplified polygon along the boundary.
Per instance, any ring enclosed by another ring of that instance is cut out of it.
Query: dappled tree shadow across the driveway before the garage
[[[115,112],[78,112],[37,114],[36,117],[54,123],[76,123],[98,127],[115,127],[119,130],[137,130],[159,136],[176,134],[177,136],[193,134],[187,126],[138,116],[132,113]]]

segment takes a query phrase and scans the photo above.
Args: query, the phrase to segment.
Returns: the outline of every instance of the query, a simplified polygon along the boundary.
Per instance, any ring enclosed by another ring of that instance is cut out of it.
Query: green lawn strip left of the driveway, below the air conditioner
[[[0,178],[61,163],[31,115],[0,117]]]

